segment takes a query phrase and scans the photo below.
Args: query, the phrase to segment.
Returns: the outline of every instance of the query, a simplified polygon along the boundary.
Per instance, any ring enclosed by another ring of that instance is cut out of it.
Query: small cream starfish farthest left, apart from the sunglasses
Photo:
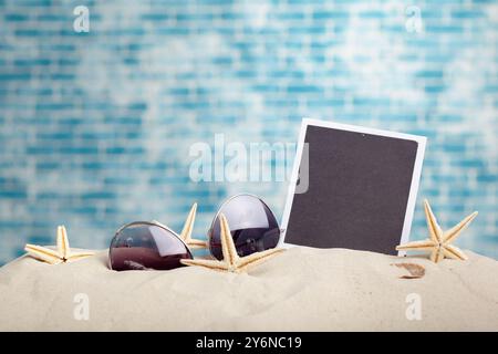
[[[95,254],[92,251],[72,252],[69,246],[68,232],[64,226],[58,227],[58,247],[56,251],[50,248],[27,244],[24,250],[32,257],[50,264],[74,262],[86,257]]]

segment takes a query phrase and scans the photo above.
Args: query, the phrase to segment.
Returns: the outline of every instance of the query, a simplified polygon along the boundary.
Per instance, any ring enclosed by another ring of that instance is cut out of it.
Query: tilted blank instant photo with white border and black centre
[[[303,119],[282,217],[282,247],[403,256],[426,138]]]

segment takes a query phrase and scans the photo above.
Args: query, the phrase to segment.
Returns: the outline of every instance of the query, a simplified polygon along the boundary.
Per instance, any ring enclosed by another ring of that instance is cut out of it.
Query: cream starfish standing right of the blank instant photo
[[[430,260],[435,263],[438,263],[445,258],[467,260],[467,256],[458,247],[450,243],[455,241],[460,232],[474,220],[477,216],[477,211],[470,214],[452,229],[443,231],[437,223],[437,219],[427,200],[424,200],[424,210],[425,218],[427,219],[427,228],[429,230],[429,239],[400,244],[396,247],[396,250],[429,251]]]

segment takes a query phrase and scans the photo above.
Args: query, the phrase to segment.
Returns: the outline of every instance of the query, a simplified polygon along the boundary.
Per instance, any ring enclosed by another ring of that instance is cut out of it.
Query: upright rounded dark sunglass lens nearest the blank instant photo
[[[268,208],[258,197],[238,195],[227,200],[220,208],[230,227],[237,253],[245,257],[255,252],[277,247],[280,238],[279,225]],[[221,260],[220,225],[217,217],[208,233],[211,254]]]

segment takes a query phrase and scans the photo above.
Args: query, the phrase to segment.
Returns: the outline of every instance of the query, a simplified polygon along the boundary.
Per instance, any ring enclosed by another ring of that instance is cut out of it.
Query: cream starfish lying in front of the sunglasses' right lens
[[[230,228],[225,215],[220,214],[219,223],[221,229],[221,251],[224,253],[224,260],[205,260],[205,259],[183,259],[180,262],[186,266],[199,266],[218,271],[228,271],[234,273],[240,273],[247,271],[248,268],[259,264],[277,253],[283,251],[283,249],[273,248],[262,252],[256,252],[246,257],[239,257],[237,249],[231,238]]]

